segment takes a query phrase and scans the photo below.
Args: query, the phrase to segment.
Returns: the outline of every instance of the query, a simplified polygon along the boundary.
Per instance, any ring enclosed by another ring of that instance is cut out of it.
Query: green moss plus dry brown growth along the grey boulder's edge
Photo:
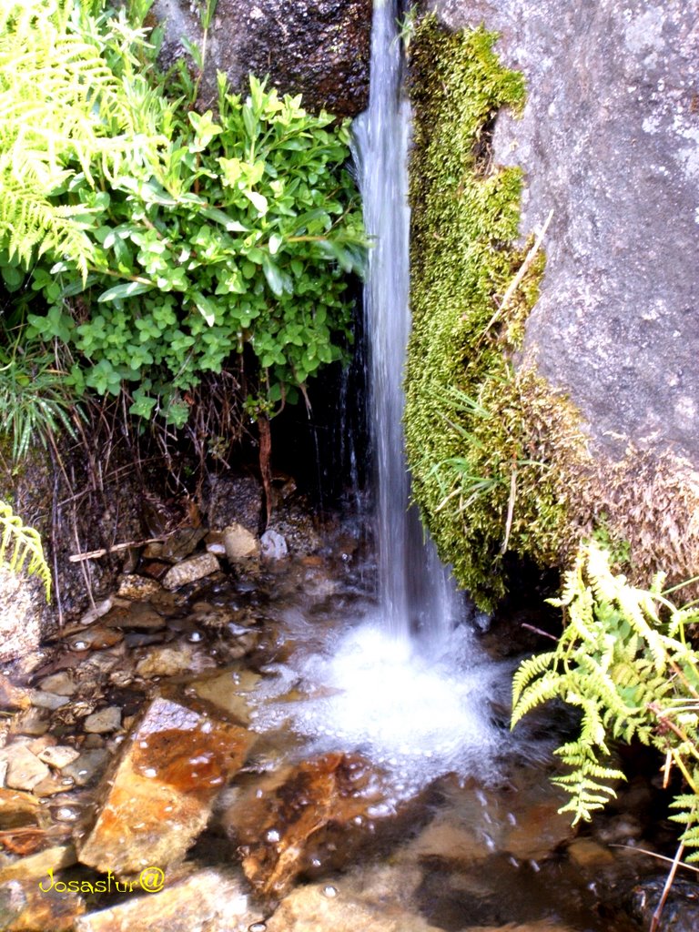
[[[483,29],[449,33],[430,16],[410,45],[413,333],[405,433],[414,498],[442,558],[479,605],[505,593],[506,553],[565,566],[604,528],[648,583],[696,572],[699,476],[670,451],[629,446],[611,460],[577,409],[536,368],[515,365],[538,296],[540,251],[519,241],[517,169],[492,164],[499,109],[523,106]],[[545,243],[544,243],[545,245]]]

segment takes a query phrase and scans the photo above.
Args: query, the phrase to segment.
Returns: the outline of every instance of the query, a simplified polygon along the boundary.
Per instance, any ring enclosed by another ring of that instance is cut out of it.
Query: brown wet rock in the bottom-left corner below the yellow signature
[[[73,932],[83,912],[85,901],[71,890],[51,887],[45,892],[34,880],[9,880],[0,886],[3,932]]]

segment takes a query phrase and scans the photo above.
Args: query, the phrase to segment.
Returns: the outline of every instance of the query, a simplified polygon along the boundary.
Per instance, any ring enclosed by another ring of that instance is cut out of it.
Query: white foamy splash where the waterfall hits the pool
[[[506,705],[509,678],[502,665],[473,664],[466,628],[452,631],[442,656],[425,658],[380,618],[326,631],[322,650],[317,623],[297,615],[292,624],[295,654],[258,690],[256,731],[291,729],[311,753],[360,752],[391,774],[397,797],[442,774],[496,774],[512,739],[491,704]]]

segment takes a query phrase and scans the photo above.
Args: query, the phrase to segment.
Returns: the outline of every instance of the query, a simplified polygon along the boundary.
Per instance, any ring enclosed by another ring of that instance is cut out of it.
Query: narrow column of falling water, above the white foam
[[[368,110],[355,120],[355,160],[364,224],[374,241],[364,289],[370,434],[376,488],[378,599],[396,639],[416,632],[433,647],[458,611],[451,578],[418,511],[410,506],[403,411],[405,348],[410,332],[407,158],[410,105],[403,89],[399,0],[376,0]]]

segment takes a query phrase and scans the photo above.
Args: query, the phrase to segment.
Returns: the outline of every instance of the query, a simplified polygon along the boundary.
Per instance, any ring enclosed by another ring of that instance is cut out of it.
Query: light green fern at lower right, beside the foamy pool
[[[535,706],[562,699],[581,709],[581,732],[555,753],[569,773],[555,783],[570,794],[562,812],[573,824],[589,819],[615,796],[611,783],[624,774],[610,765],[610,740],[637,738],[676,766],[687,785],[671,816],[685,826],[682,842],[699,848],[699,651],[685,626],[699,608],[678,609],[662,591],[629,585],[610,569],[610,554],[596,541],[581,547],[554,605],[566,609],[555,651],[532,657],[514,676],[513,725]],[[688,860],[699,860],[695,851]]]

